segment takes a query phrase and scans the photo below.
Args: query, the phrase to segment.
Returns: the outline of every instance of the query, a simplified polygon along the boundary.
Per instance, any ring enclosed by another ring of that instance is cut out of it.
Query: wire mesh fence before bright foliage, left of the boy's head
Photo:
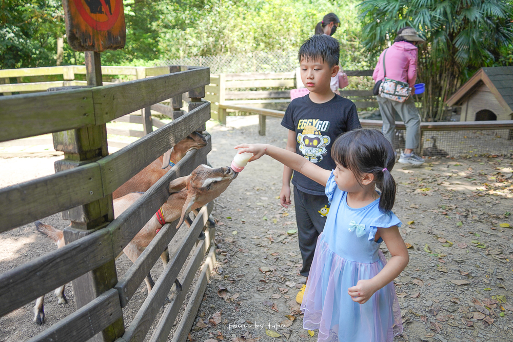
[[[299,67],[297,51],[247,52],[219,56],[193,56],[160,61],[162,65],[209,67],[210,73],[289,72]]]

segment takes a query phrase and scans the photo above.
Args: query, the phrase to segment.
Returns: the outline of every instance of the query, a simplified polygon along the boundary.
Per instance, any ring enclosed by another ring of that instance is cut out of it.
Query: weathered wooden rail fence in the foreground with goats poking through
[[[66,246],[0,274],[0,315],[73,282],[77,310],[30,341],[77,342],[93,337],[101,341],[143,341],[193,250],[179,278],[183,291],[170,297],[171,304],[150,337],[151,341],[166,340],[208,252],[194,285],[194,297],[173,337],[185,340],[214,262],[213,230],[205,230],[206,239],[198,240],[212,204],[204,206],[195,217],[126,330],[122,308],[175,235],[177,222],[164,225],[122,279],[117,278],[114,258],[167,200],[169,182],[206,163],[210,136],[206,147],[187,154],[116,219],[112,192],[192,131],[204,129],[210,118],[210,104],[201,98],[208,84],[209,69],[191,67],[116,85],[0,97],[0,142],[53,133],[56,148],[65,152],[64,160],[55,165],[55,174],[0,189],[0,232],[58,212],[72,223],[64,230]],[[184,92],[191,98],[187,114],[108,155],[107,122],[152,108]]]

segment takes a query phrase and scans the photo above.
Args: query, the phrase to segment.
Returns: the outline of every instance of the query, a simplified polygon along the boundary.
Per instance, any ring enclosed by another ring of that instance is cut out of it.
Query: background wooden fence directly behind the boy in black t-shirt
[[[345,72],[350,77],[372,76],[373,70]],[[281,73],[235,73],[211,75],[210,82],[205,87],[205,99],[212,104],[211,116],[225,124],[227,112],[254,113],[258,108],[285,110],[290,103],[290,90],[301,84],[301,77],[299,70]],[[278,88],[280,90],[276,90]],[[371,90],[342,90],[341,95],[353,100],[357,108],[378,108]],[[247,110],[248,107],[251,110]]]

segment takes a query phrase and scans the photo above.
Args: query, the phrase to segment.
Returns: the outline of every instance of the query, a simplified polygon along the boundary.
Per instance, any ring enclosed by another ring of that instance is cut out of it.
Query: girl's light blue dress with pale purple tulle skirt
[[[303,296],[303,328],[319,329],[318,341],[391,342],[403,331],[393,283],[363,305],[352,301],[347,290],[383,269],[382,239],[374,242],[374,235],[378,227],[399,227],[401,222],[392,212],[378,209],[379,199],[363,208],[350,208],[347,193],[337,187],[333,172],[326,195],[331,205]]]

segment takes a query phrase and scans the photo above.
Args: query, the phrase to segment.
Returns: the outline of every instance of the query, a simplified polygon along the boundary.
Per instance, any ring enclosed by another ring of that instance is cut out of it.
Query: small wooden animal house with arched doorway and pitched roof
[[[481,68],[448,100],[460,121],[513,119],[513,67]]]

